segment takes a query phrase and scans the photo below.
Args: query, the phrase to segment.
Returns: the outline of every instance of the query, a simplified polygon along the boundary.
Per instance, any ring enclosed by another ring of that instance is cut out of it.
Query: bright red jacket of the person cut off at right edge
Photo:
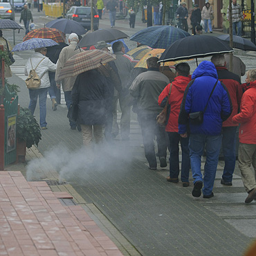
[[[256,81],[250,82],[241,98],[241,112],[233,116],[232,122],[241,123],[239,142],[256,144]]]

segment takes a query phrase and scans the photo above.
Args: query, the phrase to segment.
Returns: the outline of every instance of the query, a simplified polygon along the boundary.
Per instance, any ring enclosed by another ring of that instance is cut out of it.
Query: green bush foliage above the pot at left
[[[30,109],[20,108],[17,118],[17,138],[26,141],[26,147],[37,145],[42,139],[41,129]]]

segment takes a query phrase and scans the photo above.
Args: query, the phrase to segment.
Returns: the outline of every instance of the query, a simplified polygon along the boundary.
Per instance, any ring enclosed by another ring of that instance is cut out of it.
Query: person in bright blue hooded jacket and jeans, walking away
[[[216,86],[215,86],[216,84]],[[215,86],[215,88],[214,88]],[[212,89],[214,88],[213,92]],[[212,95],[210,96],[212,92]],[[208,101],[209,99],[209,101]],[[190,113],[203,111],[203,122],[192,125]],[[222,122],[232,113],[232,102],[226,86],[218,82],[216,68],[212,62],[203,61],[192,75],[192,81],[185,89],[179,114],[179,134],[185,138],[190,133],[190,162],[194,188],[192,196],[203,198],[214,196],[212,192],[221,148]],[[204,176],[201,173],[201,156],[206,150]]]

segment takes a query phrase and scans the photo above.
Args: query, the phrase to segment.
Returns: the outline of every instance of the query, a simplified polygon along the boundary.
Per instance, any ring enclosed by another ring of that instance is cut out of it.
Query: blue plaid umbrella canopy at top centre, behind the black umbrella
[[[135,33],[130,39],[152,48],[166,49],[173,42],[190,34],[173,26],[154,26]]]

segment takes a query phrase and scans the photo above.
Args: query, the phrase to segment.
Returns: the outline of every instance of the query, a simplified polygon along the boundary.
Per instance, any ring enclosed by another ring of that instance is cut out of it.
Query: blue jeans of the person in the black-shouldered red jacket
[[[232,181],[232,175],[235,170],[236,131],[236,126],[222,128],[222,151],[225,161],[222,179],[226,182]]]

